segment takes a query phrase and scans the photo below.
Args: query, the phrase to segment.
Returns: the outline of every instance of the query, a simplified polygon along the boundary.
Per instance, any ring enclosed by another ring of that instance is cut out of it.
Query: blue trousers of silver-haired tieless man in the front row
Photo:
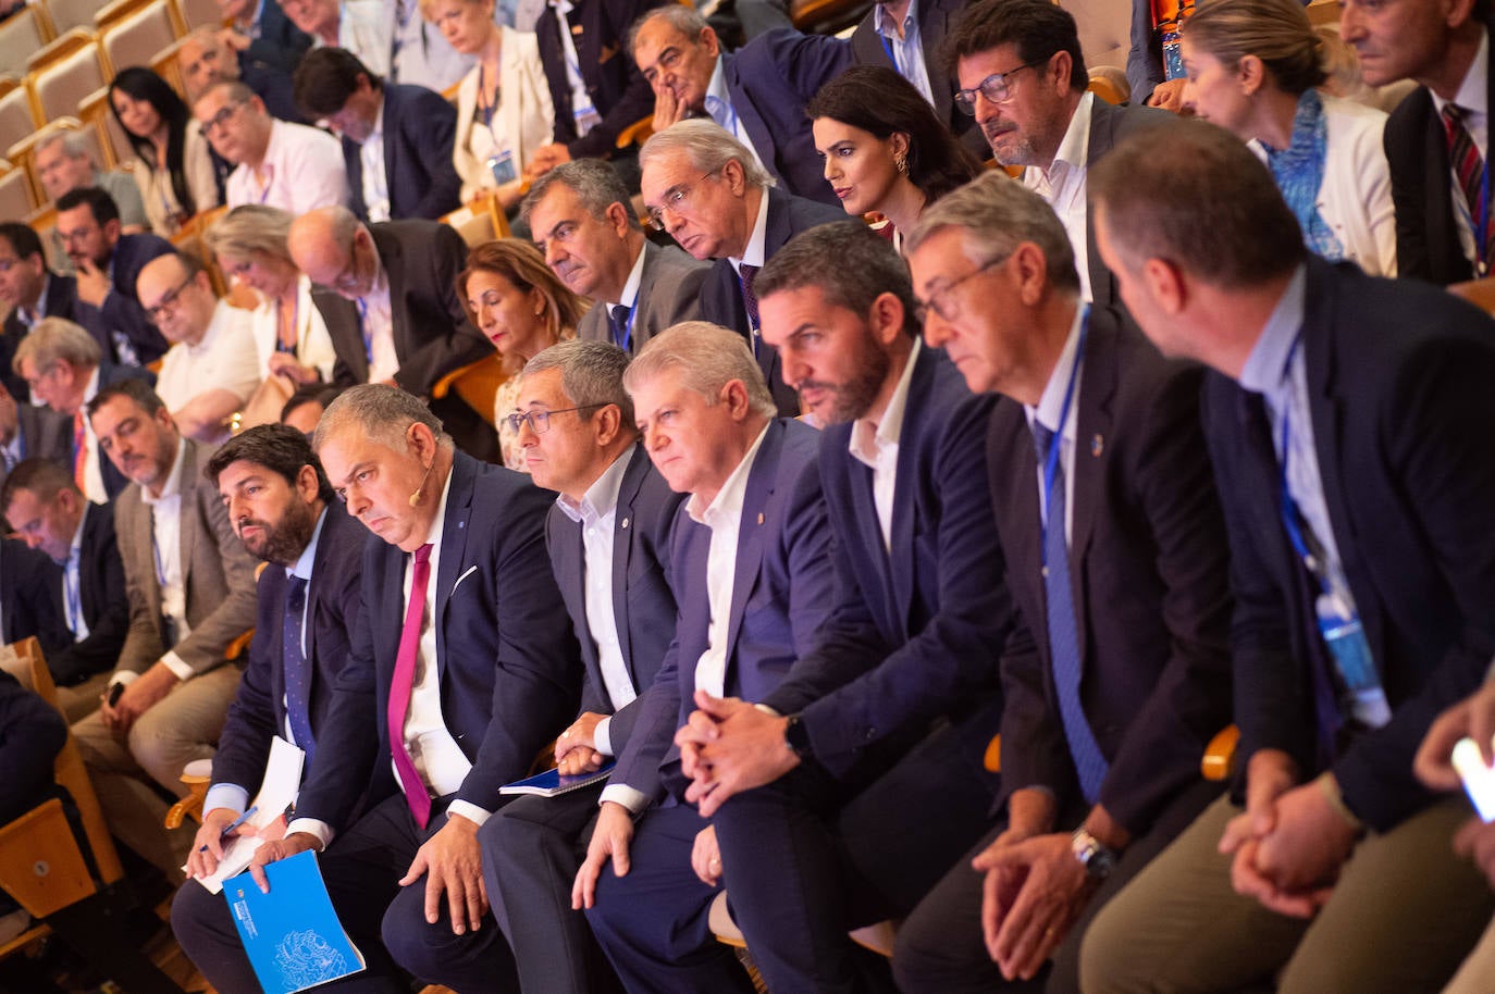
[[[586,919],[632,994],[752,994],[748,973],[707,921],[721,888],[691,868],[691,846],[706,825],[688,804],[649,809],[634,827],[628,874],[608,862],[597,882]]]

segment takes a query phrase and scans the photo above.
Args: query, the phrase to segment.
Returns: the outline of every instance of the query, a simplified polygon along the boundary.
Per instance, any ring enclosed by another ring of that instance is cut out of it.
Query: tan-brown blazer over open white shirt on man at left
[[[172,649],[193,673],[206,673],[223,662],[229,643],[254,628],[254,559],[233,534],[217,487],[202,475],[214,448],[191,439],[182,444],[181,568],[191,632],[175,646],[164,643],[151,508],[141,486],[132,483],[114,513],[130,596],[130,632],[120,652],[120,670],[144,673]]]

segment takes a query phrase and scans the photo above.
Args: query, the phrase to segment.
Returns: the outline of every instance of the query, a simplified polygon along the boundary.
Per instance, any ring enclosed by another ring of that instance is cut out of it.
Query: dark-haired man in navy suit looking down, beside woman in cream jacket
[[[437,220],[460,206],[457,112],[440,93],[384,82],[353,52],[318,48],[296,69],[296,106],[342,138],[360,221]]]

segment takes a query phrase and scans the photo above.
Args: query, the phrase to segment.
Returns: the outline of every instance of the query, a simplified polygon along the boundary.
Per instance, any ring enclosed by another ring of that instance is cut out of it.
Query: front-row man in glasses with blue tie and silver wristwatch
[[[1003,176],[925,211],[907,247],[925,342],[1005,395],[987,469],[1020,628],[985,873],[951,868],[898,930],[894,972],[903,991],[993,991],[1052,957],[1049,990],[1073,991],[1087,919],[1220,792],[1199,776],[1230,720],[1202,371],[1079,302],[1063,226]]]

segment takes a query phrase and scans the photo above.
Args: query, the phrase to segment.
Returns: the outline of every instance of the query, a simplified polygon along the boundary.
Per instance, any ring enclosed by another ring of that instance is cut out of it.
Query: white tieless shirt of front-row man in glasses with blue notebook
[[[629,445],[613,460],[613,465],[582,495],[580,504],[573,502],[565,495],[556,498],[561,513],[582,526],[582,549],[586,553],[583,584],[586,626],[597,644],[602,685],[614,711],[628,707],[638,697],[634,679],[628,673],[628,664],[623,661],[623,650],[617,638],[617,614],[613,610],[613,540],[617,522],[617,493],[623,486],[623,474],[628,471],[635,447],[637,444]],[[611,717],[604,717],[592,732],[594,744],[604,756],[613,755],[611,735],[608,734],[611,720]]]

